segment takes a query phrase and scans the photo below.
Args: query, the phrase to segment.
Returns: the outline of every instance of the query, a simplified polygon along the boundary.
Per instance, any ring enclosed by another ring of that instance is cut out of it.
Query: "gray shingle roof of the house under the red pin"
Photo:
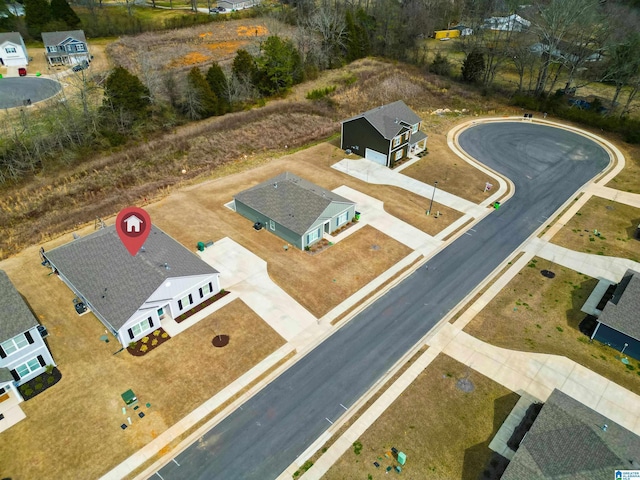
[[[135,256],[124,247],[115,226],[45,252],[45,256],[116,330],[166,279],[217,273],[153,225],[144,251]]]

